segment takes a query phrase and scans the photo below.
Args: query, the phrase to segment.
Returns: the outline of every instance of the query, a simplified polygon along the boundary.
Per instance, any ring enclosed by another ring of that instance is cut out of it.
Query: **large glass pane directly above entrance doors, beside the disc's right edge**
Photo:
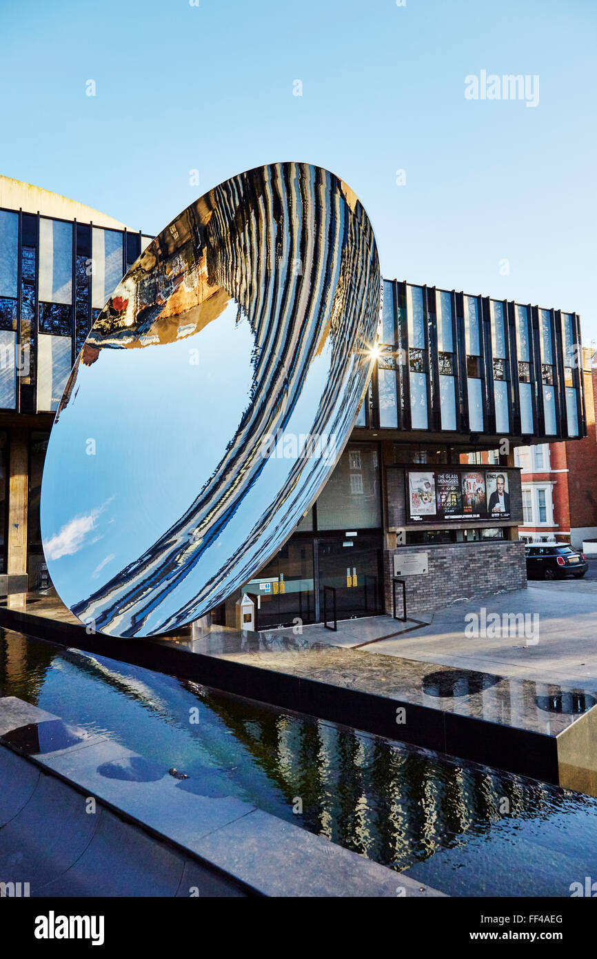
[[[379,456],[373,444],[350,443],[317,500],[318,529],[381,526]]]

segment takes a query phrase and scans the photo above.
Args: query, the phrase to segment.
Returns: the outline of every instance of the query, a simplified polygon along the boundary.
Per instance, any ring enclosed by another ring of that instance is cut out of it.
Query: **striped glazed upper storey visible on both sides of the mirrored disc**
[[[0,409],[24,413],[57,409],[92,323],[151,240],[37,193],[49,199],[21,201],[73,219],[0,209]],[[395,280],[382,293],[378,367],[357,434],[488,446],[586,434],[576,314]]]

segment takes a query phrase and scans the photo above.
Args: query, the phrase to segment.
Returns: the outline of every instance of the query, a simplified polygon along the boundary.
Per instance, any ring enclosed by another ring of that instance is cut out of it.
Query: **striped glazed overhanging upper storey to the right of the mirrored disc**
[[[357,427],[481,445],[586,435],[576,314],[396,280],[382,300]]]

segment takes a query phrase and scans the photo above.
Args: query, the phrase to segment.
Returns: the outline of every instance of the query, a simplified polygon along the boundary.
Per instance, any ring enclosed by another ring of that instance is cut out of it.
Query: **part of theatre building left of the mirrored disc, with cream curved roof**
[[[0,573],[46,588],[39,493],[55,411],[91,324],[150,237],[0,177]]]

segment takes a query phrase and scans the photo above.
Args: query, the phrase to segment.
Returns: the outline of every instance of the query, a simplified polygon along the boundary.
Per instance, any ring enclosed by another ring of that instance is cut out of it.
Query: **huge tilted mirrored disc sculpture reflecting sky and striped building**
[[[226,180],[149,244],[93,324],[45,460],[48,570],[81,621],[176,630],[280,549],[351,433],[379,282],[355,194],[303,163]]]

